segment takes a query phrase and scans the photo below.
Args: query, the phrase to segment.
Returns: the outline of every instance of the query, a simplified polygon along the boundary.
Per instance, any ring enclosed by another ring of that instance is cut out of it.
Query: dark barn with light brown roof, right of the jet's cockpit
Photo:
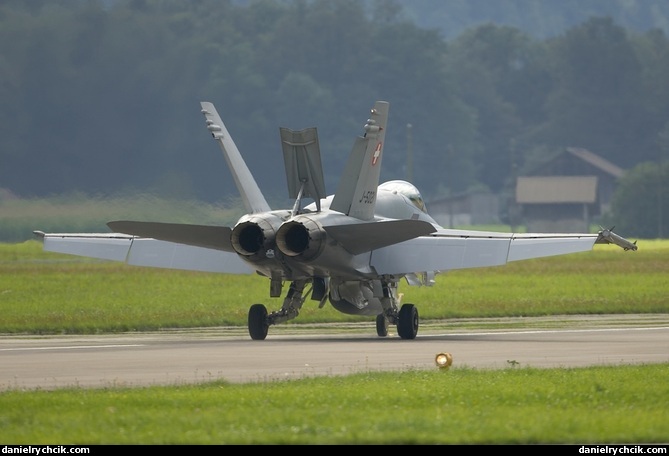
[[[609,210],[624,170],[581,148],[568,147],[516,181],[515,202],[529,232],[589,232]]]

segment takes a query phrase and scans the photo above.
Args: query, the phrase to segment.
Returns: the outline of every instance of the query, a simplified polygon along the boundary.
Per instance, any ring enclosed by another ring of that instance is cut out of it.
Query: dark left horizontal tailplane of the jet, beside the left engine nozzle
[[[177,244],[234,252],[230,243],[232,230],[226,226],[180,223],[115,221],[107,226],[117,233],[159,239]]]

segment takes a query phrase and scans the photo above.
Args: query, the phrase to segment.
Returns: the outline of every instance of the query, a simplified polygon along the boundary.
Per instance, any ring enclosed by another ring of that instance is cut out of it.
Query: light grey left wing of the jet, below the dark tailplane
[[[36,231],[48,252],[187,271],[251,274],[236,253],[120,233],[43,233]]]

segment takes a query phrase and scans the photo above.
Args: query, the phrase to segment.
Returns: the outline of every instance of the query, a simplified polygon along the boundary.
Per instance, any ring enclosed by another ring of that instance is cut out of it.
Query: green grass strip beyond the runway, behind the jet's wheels
[[[423,320],[604,313],[668,313],[669,241],[636,252],[591,252],[452,271],[433,287],[400,286]],[[0,244],[2,333],[91,334],[161,328],[245,326],[256,302],[270,310],[269,281],[139,268],[43,252],[41,243]],[[288,324],[369,321],[307,300]]]

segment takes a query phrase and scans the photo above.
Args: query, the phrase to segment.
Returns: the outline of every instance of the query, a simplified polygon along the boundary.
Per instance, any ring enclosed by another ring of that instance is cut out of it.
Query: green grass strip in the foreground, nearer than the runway
[[[0,393],[5,444],[667,442],[669,365]]]

